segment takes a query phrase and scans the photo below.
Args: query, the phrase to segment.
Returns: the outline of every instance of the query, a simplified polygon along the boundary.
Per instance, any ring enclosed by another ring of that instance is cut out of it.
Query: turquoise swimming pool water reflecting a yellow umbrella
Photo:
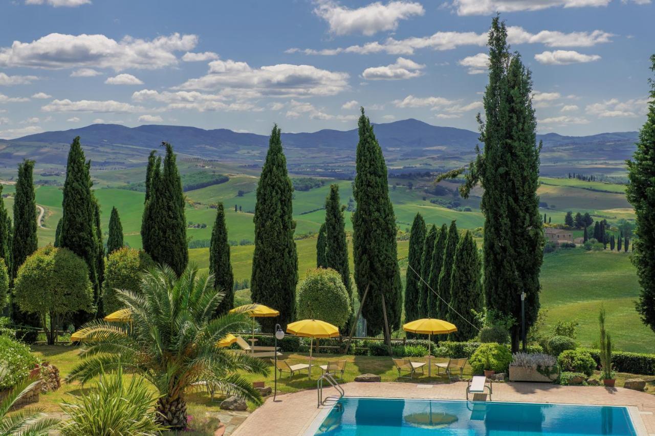
[[[636,435],[626,407],[343,397],[322,436]]]

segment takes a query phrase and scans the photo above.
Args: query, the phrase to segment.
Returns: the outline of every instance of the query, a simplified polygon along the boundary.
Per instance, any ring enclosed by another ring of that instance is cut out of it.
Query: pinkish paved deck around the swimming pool
[[[348,397],[388,397],[421,399],[465,399],[466,382],[451,384],[357,383],[341,385]],[[333,388],[325,388],[324,396],[336,395]],[[236,428],[233,436],[293,436],[304,435],[316,416],[329,405],[317,408],[316,390],[278,395],[275,402],[269,397]],[[625,388],[605,386],[558,386],[543,383],[495,383],[494,401],[526,403],[569,403],[603,406],[636,407],[635,414],[643,426],[635,422],[639,436],[655,436],[655,395]],[[641,430],[641,431],[640,431]]]

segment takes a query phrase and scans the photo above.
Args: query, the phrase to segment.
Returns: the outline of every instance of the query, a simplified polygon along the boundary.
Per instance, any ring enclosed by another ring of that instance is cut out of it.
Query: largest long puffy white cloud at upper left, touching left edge
[[[174,52],[191,50],[196,43],[196,35],[179,33],[150,41],[130,36],[115,41],[105,35],[50,33],[31,43],[14,41],[10,47],[0,48],[0,67],[157,69],[177,64]]]

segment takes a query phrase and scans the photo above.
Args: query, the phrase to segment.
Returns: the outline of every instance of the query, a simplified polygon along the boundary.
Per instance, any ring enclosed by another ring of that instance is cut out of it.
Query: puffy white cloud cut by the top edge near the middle
[[[314,13],[329,25],[331,33],[348,35],[362,33],[375,35],[379,31],[395,30],[400,20],[425,13],[421,3],[409,1],[390,1],[386,5],[376,1],[357,9],[349,9],[335,1],[322,0]]]

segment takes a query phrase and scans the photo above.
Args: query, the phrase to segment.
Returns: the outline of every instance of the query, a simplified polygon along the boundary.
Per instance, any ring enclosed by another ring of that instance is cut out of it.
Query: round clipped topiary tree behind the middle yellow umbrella
[[[298,288],[297,319],[320,319],[343,327],[350,318],[350,297],[341,276],[332,268],[316,268]]]

